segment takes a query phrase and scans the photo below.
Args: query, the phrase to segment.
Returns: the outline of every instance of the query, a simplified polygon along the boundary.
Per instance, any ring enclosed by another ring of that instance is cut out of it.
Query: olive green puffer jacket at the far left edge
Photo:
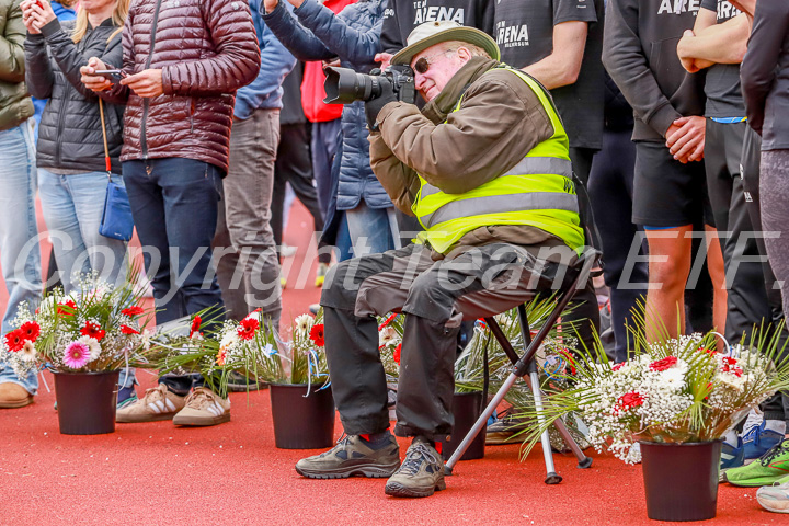
[[[0,130],[19,126],[33,116],[24,84],[22,0],[0,0]]]

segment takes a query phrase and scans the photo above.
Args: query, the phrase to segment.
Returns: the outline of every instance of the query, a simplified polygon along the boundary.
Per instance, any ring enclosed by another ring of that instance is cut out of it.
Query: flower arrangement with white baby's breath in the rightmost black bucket
[[[640,461],[639,441],[695,443],[721,438],[753,407],[789,387],[789,358],[779,359],[777,338],[752,338],[727,353],[716,334],[647,342],[637,332],[633,357],[610,364],[599,341],[579,350],[575,375],[564,390],[548,393],[542,425],[531,410],[528,447],[556,419],[575,412],[588,423],[588,441],[628,464]],[[762,350],[762,352],[759,352]]]

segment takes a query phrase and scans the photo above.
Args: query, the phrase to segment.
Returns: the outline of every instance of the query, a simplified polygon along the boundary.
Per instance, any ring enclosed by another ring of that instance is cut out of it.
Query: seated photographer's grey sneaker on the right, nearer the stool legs
[[[444,461],[430,442],[416,437],[405,451],[405,459],[385,488],[392,496],[430,496],[446,490]]]

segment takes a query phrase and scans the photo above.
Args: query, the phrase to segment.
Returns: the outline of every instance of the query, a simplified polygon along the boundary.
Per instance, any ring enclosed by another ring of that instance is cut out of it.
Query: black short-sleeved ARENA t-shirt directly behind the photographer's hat
[[[559,115],[575,148],[602,147],[605,77],[603,0],[491,0],[495,3],[493,36],[502,61],[524,68],[553,52],[553,26],[588,22],[581,72],[574,84],[551,90]]]

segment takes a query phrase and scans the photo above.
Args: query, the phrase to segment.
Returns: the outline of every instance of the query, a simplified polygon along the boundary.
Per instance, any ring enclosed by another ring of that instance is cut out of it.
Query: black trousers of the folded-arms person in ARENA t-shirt
[[[770,317],[741,176],[742,145],[747,127],[746,123],[722,124],[707,119],[705,142],[707,191],[721,236],[727,272],[725,336],[731,343],[739,342],[743,335],[750,336],[754,325],[759,327]]]

